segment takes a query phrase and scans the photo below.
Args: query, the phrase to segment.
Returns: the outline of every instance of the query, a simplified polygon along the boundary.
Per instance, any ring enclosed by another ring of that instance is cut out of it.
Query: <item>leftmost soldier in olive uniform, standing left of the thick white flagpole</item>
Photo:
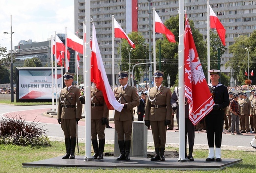
[[[79,101],[80,89],[73,87],[73,73],[64,74],[65,86],[62,88],[58,103],[58,123],[65,135],[66,154],[62,159],[75,158],[76,128],[82,118],[82,104]]]

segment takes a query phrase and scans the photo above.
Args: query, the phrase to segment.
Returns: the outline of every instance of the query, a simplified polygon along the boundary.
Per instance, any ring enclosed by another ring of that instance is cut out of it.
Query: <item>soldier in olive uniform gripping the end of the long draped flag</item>
[[[121,112],[115,110],[114,114],[115,130],[120,150],[120,156],[117,160],[130,160],[133,108],[139,105],[139,95],[135,87],[127,84],[128,72],[120,71],[118,79],[121,86],[115,88],[114,94],[118,102],[124,104],[124,107]]]

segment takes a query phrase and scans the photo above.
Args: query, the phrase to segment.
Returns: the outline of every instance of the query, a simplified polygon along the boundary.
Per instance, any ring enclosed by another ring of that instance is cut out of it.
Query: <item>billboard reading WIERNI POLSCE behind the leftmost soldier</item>
[[[17,85],[16,101],[52,101],[52,97],[60,93],[64,68],[57,68],[57,84],[55,84],[55,70],[48,67],[16,68]],[[53,75],[53,83],[52,83]],[[54,87],[54,89],[52,89]],[[57,87],[57,92],[55,87]]]

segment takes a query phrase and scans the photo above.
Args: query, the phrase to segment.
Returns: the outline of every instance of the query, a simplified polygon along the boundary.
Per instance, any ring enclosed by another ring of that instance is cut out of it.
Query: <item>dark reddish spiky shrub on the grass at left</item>
[[[21,116],[0,120],[0,144],[19,146],[46,147],[51,146],[46,130],[38,127],[38,122],[27,123]]]

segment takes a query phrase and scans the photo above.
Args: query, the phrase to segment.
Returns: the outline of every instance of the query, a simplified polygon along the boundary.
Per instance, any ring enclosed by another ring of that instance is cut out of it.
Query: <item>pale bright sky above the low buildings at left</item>
[[[20,40],[47,41],[56,33],[74,32],[74,0],[1,0],[0,46],[11,48]]]

